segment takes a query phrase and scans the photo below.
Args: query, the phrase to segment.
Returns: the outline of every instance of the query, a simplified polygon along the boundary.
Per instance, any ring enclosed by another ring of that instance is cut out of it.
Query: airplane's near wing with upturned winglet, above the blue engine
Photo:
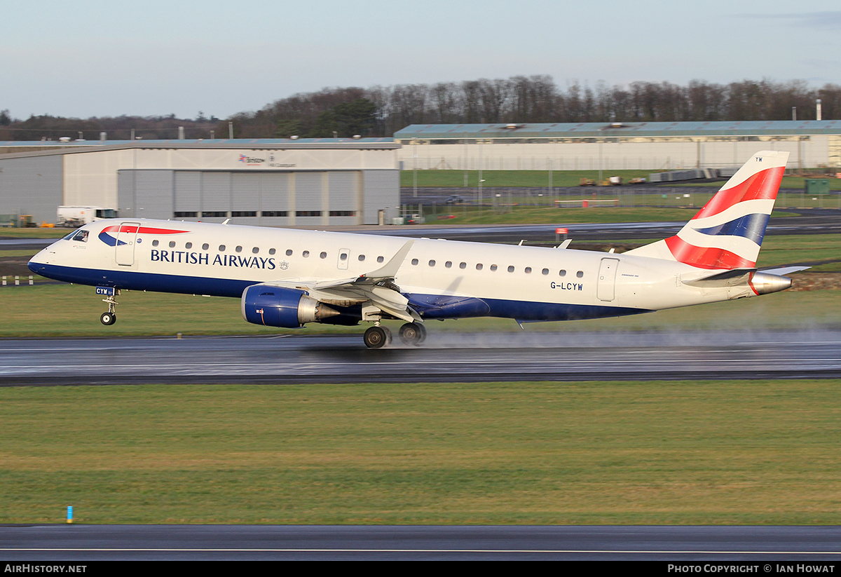
[[[423,322],[421,315],[409,305],[409,299],[400,294],[394,277],[414,243],[406,241],[399,251],[382,267],[358,277],[338,278],[329,281],[278,280],[265,283],[285,289],[302,289],[313,299],[325,304],[352,306],[370,302],[379,310],[407,322]]]

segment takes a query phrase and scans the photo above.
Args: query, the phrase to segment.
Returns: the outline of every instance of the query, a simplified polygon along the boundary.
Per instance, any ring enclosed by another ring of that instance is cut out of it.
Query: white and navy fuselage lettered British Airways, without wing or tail
[[[135,230],[125,233],[121,225]],[[142,219],[99,220],[81,230],[87,231],[86,239],[77,232],[79,240],[71,235],[56,241],[32,259],[30,268],[46,277],[114,289],[239,297],[257,283],[359,277],[389,262],[407,242],[393,236]],[[420,239],[394,284],[423,318],[568,320],[755,294],[747,283],[685,283],[712,272],[651,257]]]

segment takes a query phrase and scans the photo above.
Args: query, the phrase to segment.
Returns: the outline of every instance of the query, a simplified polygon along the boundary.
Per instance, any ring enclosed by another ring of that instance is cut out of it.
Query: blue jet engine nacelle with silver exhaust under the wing
[[[338,314],[302,290],[255,284],[242,293],[242,318],[255,325],[297,329]]]

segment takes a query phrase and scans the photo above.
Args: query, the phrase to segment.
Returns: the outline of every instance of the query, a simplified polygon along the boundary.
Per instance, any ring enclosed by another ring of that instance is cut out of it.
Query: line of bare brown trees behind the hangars
[[[693,80],[685,86],[671,82],[632,82],[609,86],[567,82],[560,87],[545,75],[398,84],[382,87],[331,87],[297,93],[268,103],[256,112],[229,119],[176,119],[121,116],[63,119],[33,116],[12,119],[0,112],[0,140],[57,138],[58,133],[107,131],[109,139],[129,138],[130,129],[145,139],[177,138],[177,126],[187,138],[227,138],[229,123],[236,138],[330,138],[391,136],[410,124],[497,124],[577,122],[679,122],[717,120],[786,120],[792,108],[801,120],[841,118],[841,86],[809,87],[807,82],[743,80],[717,84]],[[123,133],[126,133],[123,135]],[[89,137],[88,137],[89,138]]]

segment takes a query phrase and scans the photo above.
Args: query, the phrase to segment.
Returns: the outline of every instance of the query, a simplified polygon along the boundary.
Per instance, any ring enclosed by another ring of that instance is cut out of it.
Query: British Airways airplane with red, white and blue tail
[[[264,326],[383,320],[420,344],[426,320],[495,316],[518,323],[635,315],[788,289],[757,272],[759,246],[788,152],[757,152],[677,235],[622,254],[444,240],[406,240],[172,220],[98,220],[40,251],[29,268],[96,287],[113,325],[123,290],[241,299]],[[227,222],[227,221],[225,221]],[[779,273],[779,274],[775,274]],[[522,326],[522,324],[521,324]]]

